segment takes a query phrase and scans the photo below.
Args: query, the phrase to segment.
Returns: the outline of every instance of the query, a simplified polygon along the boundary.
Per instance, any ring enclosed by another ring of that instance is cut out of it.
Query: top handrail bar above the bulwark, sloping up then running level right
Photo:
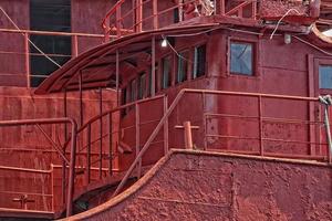
[[[173,113],[179,101],[183,98],[185,93],[199,93],[199,94],[220,94],[220,95],[238,95],[238,96],[249,96],[249,97],[259,97],[259,98],[282,98],[282,99],[291,99],[291,101],[309,101],[309,102],[318,102],[318,97],[302,97],[302,96],[289,96],[289,95],[272,95],[272,94],[261,94],[261,93],[242,93],[242,92],[228,92],[228,91],[211,91],[211,90],[190,90],[190,88],[184,88],[181,90],[175,99],[173,101],[172,105],[169,108],[166,110],[164,116],[162,117],[160,122],[152,133],[152,135],[148,137],[146,140],[145,145],[143,146],[142,150],[139,154],[136,156],[135,160],[131,165],[129,169],[127,170],[126,175],[124,176],[123,180],[120,182],[117,186],[116,190],[114,191],[112,197],[115,197],[116,194],[120,193],[120,191],[123,189],[125,186],[127,179],[136,168],[136,165],[141,161],[143,155],[151,147],[151,143],[156,138],[158,135],[159,130],[164,126],[166,119],[169,117],[169,115]],[[331,152],[329,154],[331,155]]]

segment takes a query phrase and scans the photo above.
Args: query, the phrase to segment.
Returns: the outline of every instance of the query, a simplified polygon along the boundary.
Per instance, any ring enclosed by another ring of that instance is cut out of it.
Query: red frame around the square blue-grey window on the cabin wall
[[[243,43],[243,44],[251,44],[252,45],[252,74],[242,74],[242,73],[235,73],[231,72],[231,43]],[[243,78],[259,78],[260,77],[260,71],[259,71],[259,39],[243,39],[243,38],[235,38],[235,36],[228,36],[227,40],[227,76],[234,76],[234,77],[243,77]]]

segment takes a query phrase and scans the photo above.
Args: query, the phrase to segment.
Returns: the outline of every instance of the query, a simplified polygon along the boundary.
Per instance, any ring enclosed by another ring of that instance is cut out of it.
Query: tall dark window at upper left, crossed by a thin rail
[[[71,32],[71,0],[30,0],[30,29]],[[31,34],[31,41],[58,64],[71,59],[71,36]],[[39,86],[59,67],[30,44],[31,85]]]

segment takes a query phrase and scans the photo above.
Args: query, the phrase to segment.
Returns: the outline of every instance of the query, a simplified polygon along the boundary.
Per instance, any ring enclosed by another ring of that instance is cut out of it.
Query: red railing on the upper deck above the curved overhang
[[[177,22],[186,20],[186,9],[193,10],[194,17],[199,15],[212,15],[220,14],[226,17],[239,17],[246,19],[256,20],[257,18],[257,1],[237,1],[236,6],[228,7],[227,1],[225,0],[214,0],[211,1],[212,8],[211,12],[206,14],[206,7],[201,4],[200,1],[190,0],[190,1],[179,1],[179,3],[172,7],[162,8],[162,4],[158,4],[157,0],[138,0],[135,4],[135,1],[131,2],[131,8],[128,1],[121,0],[117,1],[111,10],[106,13],[105,18],[102,21],[102,28],[105,34],[105,41],[110,40],[110,34],[114,33],[117,38],[131,34],[139,33],[142,31],[152,31],[157,30]],[[200,8],[200,9],[198,9]],[[250,8],[251,14],[243,14],[245,10]],[[174,10],[178,13],[178,21],[160,23],[163,17],[169,17],[169,21],[174,19]],[[123,11],[125,12],[123,14]]]

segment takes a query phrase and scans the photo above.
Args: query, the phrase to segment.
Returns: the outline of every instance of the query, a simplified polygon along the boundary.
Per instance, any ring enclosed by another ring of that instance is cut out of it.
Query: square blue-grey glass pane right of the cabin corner
[[[230,73],[253,75],[253,50],[251,43],[230,43]]]

